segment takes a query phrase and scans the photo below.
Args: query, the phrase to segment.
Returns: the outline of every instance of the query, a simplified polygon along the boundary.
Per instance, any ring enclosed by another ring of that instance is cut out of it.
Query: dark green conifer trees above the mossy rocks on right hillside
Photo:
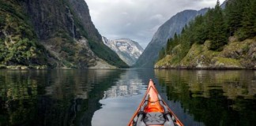
[[[220,51],[232,35],[236,35],[239,40],[256,35],[255,0],[230,0],[224,10],[217,1],[215,8],[209,9],[205,16],[196,17],[183,28],[180,35],[175,34],[173,39],[168,39],[165,55],[183,58],[193,43],[205,44],[206,40],[209,40],[209,50]],[[174,52],[177,45],[180,45],[181,50],[178,53]],[[160,50],[160,56],[163,58],[163,50]]]

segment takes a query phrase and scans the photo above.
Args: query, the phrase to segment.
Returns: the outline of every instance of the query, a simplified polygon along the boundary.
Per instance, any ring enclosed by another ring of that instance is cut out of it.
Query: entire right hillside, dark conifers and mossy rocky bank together
[[[220,2],[168,39],[156,68],[254,68],[256,0]]]

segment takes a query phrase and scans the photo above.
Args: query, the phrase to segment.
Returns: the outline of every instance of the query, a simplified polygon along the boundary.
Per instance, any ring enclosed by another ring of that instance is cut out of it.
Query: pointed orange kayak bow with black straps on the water
[[[128,126],[183,126],[161,96],[152,80]]]

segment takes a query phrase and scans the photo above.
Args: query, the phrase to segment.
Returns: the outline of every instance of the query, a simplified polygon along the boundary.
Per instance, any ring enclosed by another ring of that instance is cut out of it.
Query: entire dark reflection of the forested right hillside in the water
[[[205,125],[254,125],[256,100],[250,71],[156,70],[168,99],[182,103]]]

